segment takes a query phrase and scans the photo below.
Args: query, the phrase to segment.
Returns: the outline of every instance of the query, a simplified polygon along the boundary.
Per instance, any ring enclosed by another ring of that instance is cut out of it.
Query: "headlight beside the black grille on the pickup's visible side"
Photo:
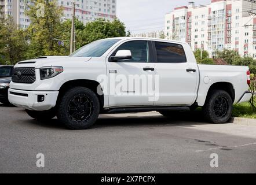
[[[47,66],[40,68],[40,78],[41,80],[50,79],[51,77],[57,76],[63,72],[63,67],[61,66]]]

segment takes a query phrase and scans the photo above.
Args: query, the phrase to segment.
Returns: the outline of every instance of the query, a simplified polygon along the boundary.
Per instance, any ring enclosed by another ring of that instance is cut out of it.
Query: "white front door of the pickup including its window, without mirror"
[[[155,64],[150,62],[148,40],[121,43],[119,50],[130,50],[131,59],[109,61],[107,58],[109,106],[150,106],[154,102]]]

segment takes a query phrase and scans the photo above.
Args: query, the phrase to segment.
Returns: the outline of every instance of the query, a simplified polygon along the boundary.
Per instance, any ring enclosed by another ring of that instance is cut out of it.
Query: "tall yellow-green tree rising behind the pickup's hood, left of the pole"
[[[26,12],[31,24],[26,30],[30,47],[28,58],[38,56],[64,55],[65,47],[58,45],[56,38],[60,38],[61,16],[63,10],[56,0],[32,0],[32,5]]]

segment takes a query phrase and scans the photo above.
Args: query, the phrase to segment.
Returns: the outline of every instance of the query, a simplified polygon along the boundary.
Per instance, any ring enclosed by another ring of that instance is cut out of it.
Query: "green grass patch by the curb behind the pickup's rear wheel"
[[[256,119],[256,112],[253,112],[250,103],[246,102],[235,105],[233,108],[232,116]]]

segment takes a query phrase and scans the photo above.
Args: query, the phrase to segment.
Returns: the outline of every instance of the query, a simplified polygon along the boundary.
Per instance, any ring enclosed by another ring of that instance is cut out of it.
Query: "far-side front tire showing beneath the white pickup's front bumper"
[[[46,121],[46,120],[51,120],[53,117],[56,116],[56,109],[50,109],[50,110],[45,110],[45,111],[35,111],[35,110],[25,110],[28,114],[28,116],[39,120],[39,121]]]

